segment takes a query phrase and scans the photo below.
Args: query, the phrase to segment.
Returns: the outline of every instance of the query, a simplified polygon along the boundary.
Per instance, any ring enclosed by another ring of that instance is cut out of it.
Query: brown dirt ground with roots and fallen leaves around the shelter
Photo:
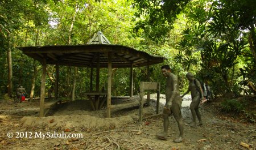
[[[164,102],[164,96],[161,95]],[[106,111],[91,111],[89,102],[76,100],[59,104],[47,117],[36,117],[39,102],[0,100],[0,149],[255,149],[256,127],[217,113],[213,103],[200,105],[203,126],[190,127],[189,97],[183,101],[184,138],[179,134],[173,116],[167,140],[156,139],[163,130],[163,119],[155,114],[155,95],[151,106],[143,108],[144,119],[138,122],[138,107],[119,110],[112,118]],[[138,96],[112,103],[138,101]],[[163,104],[160,105],[163,108]],[[13,137],[11,136],[13,132]],[[47,134],[44,138],[39,133]],[[63,134],[77,134],[64,138]],[[56,137],[57,135],[57,137]],[[78,137],[78,135],[80,137]],[[81,137],[82,135],[82,137]]]

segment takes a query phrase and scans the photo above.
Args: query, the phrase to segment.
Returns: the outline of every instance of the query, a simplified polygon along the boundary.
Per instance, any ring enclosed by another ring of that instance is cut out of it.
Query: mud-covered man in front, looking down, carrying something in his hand
[[[183,141],[183,122],[181,118],[181,97],[179,92],[179,80],[177,76],[171,73],[170,66],[164,65],[161,67],[164,77],[166,77],[166,105],[163,109],[163,127],[164,131],[157,134],[159,139],[166,140],[168,136],[169,116],[174,115],[177,125],[179,127],[179,136],[174,142],[179,143]]]

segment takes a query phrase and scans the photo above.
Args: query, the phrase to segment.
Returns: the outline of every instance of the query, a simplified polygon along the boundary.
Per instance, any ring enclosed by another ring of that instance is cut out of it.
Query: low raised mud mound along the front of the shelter
[[[97,118],[91,115],[57,115],[48,117],[23,117],[24,127],[46,128],[50,130],[109,130],[131,123],[135,118],[132,115],[126,115],[118,118]]]

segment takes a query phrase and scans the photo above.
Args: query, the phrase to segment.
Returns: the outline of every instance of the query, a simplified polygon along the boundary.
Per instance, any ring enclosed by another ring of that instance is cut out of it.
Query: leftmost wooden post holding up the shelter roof
[[[41,76],[41,93],[40,93],[40,113],[39,117],[44,117],[44,97],[46,93],[46,59],[43,58],[42,67],[42,76]]]

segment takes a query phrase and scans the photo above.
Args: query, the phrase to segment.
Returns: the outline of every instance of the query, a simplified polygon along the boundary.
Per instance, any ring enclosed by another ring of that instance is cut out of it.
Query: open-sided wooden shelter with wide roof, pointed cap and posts
[[[130,68],[130,96],[132,96],[133,67],[148,66],[149,68],[150,65],[162,63],[164,60],[163,57],[155,57],[127,46],[113,45],[101,32],[97,32],[86,45],[28,46],[20,49],[43,66],[40,117],[44,116],[46,64],[56,65],[56,99],[59,87],[59,65],[91,68],[90,89],[92,89],[93,68],[96,68],[96,92],[100,92],[100,68],[108,68],[107,117],[110,117],[112,68]]]

